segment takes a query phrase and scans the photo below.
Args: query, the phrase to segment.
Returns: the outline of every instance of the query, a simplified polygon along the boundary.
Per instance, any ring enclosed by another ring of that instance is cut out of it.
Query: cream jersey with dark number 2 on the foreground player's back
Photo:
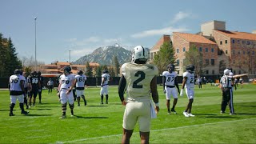
[[[126,78],[128,100],[150,99],[150,83],[158,75],[158,68],[150,64],[128,62],[121,67]]]

